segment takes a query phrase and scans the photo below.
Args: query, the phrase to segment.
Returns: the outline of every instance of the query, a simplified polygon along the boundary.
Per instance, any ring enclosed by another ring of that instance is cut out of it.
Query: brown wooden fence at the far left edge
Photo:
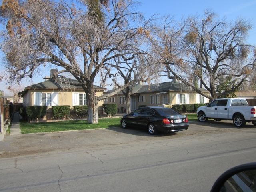
[[[8,100],[4,97],[0,97],[0,134],[4,133],[4,126],[8,124],[10,118]]]

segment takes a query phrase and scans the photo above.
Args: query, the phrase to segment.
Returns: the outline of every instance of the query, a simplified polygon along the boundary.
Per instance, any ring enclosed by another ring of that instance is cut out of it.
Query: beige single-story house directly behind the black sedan
[[[199,88],[205,94],[208,90]],[[109,90],[108,92],[113,92]],[[122,92],[104,101],[105,103],[116,103],[118,108],[125,108],[125,97]],[[135,110],[140,105],[163,106],[174,104],[194,104],[207,103],[209,99],[191,91],[191,89],[176,80],[158,84],[143,85],[141,82],[136,84],[131,93],[131,110]]]

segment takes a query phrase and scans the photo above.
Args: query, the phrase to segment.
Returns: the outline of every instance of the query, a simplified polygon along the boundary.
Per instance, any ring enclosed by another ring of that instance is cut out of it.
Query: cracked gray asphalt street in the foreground
[[[212,120],[157,136],[135,128],[6,136],[0,191],[210,191],[224,171],[255,162],[255,138],[251,123]]]

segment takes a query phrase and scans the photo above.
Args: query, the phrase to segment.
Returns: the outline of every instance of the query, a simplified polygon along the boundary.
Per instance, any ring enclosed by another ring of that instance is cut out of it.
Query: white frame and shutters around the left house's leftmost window
[[[46,105],[44,106],[56,106],[58,105],[58,93],[56,92],[34,92],[34,106],[42,106],[42,94],[46,94]],[[51,101],[48,100],[50,95]]]

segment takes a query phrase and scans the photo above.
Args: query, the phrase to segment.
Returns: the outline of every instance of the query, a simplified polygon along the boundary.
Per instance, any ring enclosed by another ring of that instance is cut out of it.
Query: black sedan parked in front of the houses
[[[146,127],[149,134],[157,131],[178,132],[188,129],[188,118],[167,107],[141,107],[121,118],[123,128]]]

